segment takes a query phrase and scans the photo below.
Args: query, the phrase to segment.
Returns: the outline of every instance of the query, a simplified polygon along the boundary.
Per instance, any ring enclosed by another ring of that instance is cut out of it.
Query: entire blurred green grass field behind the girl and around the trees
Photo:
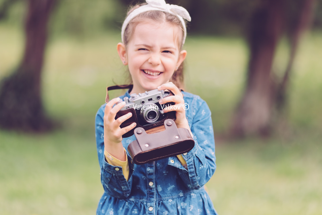
[[[62,128],[43,135],[0,130],[1,215],[95,214],[103,189],[94,117],[105,88],[124,83],[126,68],[116,52],[119,37],[50,40],[43,99]],[[0,25],[0,79],[18,64],[23,43],[21,31]],[[212,110],[217,170],[207,188],[219,214],[322,214],[322,34],[304,37],[283,116],[287,121],[265,140],[232,141],[221,135],[243,89],[244,41],[190,35],[185,48],[186,90],[200,95]],[[285,53],[281,44],[274,66],[278,74]]]

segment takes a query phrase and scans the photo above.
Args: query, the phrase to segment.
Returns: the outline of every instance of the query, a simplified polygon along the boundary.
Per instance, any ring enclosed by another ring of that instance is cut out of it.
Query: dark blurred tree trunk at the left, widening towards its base
[[[17,69],[0,84],[0,127],[43,132],[53,123],[41,98],[41,71],[47,24],[56,0],[27,0],[24,56]]]

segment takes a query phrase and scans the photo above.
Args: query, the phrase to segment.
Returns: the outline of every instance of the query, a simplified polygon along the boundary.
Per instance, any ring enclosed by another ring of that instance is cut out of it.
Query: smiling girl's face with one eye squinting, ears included
[[[118,44],[118,54],[130,71],[131,93],[154,90],[169,82],[183,62],[186,51],[180,51],[178,41],[182,30],[169,23],[137,24],[127,47]]]

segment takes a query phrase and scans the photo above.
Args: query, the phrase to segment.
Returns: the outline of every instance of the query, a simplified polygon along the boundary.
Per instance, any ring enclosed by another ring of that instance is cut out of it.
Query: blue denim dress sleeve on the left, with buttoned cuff
[[[128,159],[128,181],[123,175],[122,166],[114,166],[107,162],[104,156],[104,108],[105,104],[98,110],[95,117],[95,138],[99,167],[101,174],[101,183],[104,191],[113,197],[124,199],[130,194],[132,187],[132,174],[134,165],[131,157],[127,154]]]

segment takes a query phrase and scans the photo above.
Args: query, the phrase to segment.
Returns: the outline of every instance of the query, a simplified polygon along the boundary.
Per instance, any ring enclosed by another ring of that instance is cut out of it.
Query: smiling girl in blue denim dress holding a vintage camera
[[[217,214],[204,190],[216,169],[211,113],[199,96],[178,89],[187,54],[182,50],[184,19],[190,21],[190,16],[183,7],[164,0],[146,2],[134,6],[122,26],[117,51],[128,65],[133,87],[120,98],[156,88],[171,90],[174,96],[160,103],[175,103],[177,108],[164,112],[176,111],[176,126],[190,131],[195,146],[183,155],[136,165],[127,151],[135,135],[122,139],[136,124],[119,127],[130,113],[115,120],[125,103],[116,104],[120,98],[115,98],[102,105],[95,121],[104,188],[97,214]]]

